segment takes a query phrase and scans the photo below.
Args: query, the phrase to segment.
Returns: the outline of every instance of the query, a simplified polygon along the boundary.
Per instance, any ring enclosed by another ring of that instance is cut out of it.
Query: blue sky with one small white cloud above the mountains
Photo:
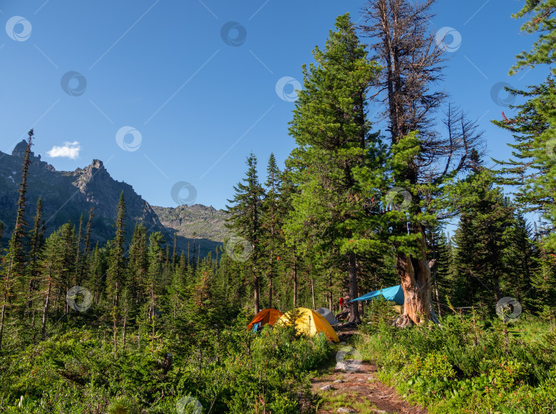
[[[524,87],[546,76],[546,68],[507,75],[514,56],[534,41],[510,17],[522,3],[439,0],[431,22],[435,32],[455,31],[440,87],[479,119],[489,154],[498,158],[509,157],[511,137],[489,122],[510,113],[496,85]],[[338,14],[358,21],[363,5],[4,0],[0,150],[11,152],[33,127],[34,152],[56,170],[101,159],[153,205],[175,207],[176,188],[185,187],[176,183],[190,183],[192,192],[179,193],[183,202],[222,208],[251,150],[262,176],[270,152],[281,164],[288,157],[288,94],[301,81],[301,65],[324,45]],[[279,80],[286,83],[281,96]]]

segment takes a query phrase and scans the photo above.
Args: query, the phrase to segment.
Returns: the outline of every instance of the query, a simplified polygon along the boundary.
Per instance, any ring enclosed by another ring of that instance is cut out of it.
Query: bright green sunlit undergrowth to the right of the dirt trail
[[[479,310],[441,326],[393,327],[386,303],[369,312],[356,346],[378,378],[430,413],[554,413],[556,331],[522,315],[505,322]]]

